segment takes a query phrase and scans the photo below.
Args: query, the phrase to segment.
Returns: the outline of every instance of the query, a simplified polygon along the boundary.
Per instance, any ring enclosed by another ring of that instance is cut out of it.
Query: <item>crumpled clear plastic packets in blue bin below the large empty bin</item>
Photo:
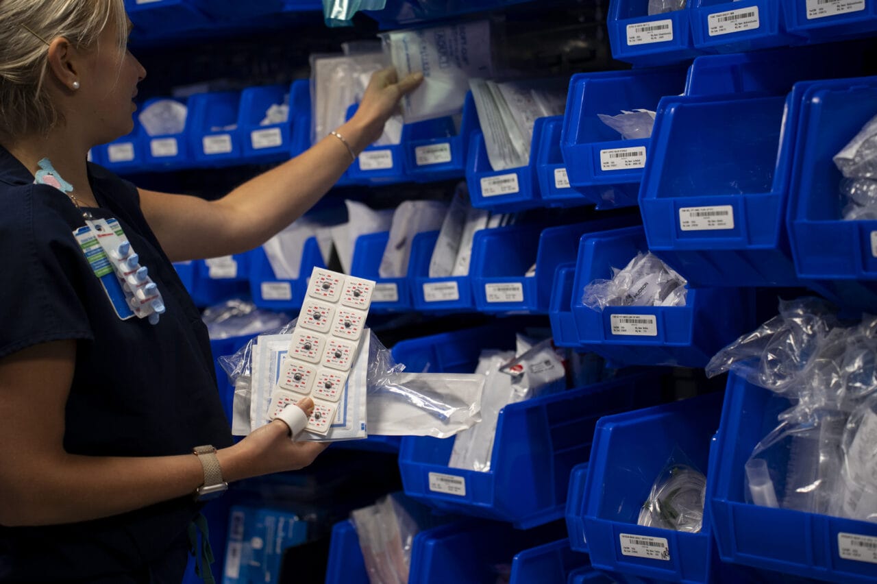
[[[611,280],[585,286],[581,302],[593,310],[607,306],[685,306],[687,282],[658,256],[637,253],[624,269],[612,268]]]

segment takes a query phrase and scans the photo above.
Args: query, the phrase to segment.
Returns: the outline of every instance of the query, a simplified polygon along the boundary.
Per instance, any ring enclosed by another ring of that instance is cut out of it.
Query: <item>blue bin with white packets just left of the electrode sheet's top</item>
[[[298,310],[302,308],[308,278],[314,267],[325,267],[317,238],[304,242],[302,267],[298,278],[281,280],[275,276],[261,247],[250,252],[250,296],[253,304],[267,310]]]

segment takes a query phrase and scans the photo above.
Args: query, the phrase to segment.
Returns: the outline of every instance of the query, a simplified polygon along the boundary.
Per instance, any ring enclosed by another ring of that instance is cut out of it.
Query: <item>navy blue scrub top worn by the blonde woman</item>
[[[100,204],[91,213],[118,219],[167,312],[156,325],[119,319],[72,235],[82,213],[61,191],[32,184],[32,174],[0,146],[0,358],[75,339],[67,452],[162,456],[231,445],[206,327],[146,224],[137,189],[91,164],[89,181]],[[0,582],[142,569],[180,541],[197,510],[182,497],[84,523],[0,526]]]

